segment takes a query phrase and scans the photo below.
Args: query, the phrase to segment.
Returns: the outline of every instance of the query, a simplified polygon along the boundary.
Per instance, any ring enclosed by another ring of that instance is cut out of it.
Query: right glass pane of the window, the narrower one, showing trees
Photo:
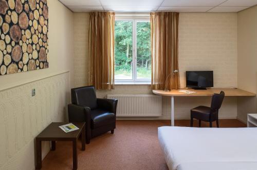
[[[151,25],[137,22],[137,79],[151,78]]]

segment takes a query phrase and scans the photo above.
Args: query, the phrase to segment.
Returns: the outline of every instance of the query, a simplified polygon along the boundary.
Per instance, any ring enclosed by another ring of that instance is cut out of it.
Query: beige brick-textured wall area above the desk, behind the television
[[[237,14],[180,13],[179,70],[213,70],[214,87],[237,86]]]

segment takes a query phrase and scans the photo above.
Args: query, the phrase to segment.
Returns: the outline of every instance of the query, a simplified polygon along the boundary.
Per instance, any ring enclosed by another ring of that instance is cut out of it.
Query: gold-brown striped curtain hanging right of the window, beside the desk
[[[178,70],[177,12],[151,12],[152,89],[180,87]]]

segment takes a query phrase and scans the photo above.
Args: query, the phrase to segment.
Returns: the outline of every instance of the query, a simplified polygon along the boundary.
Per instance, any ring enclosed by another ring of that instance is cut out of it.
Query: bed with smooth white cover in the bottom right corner
[[[257,128],[162,126],[158,138],[170,170],[257,169]]]

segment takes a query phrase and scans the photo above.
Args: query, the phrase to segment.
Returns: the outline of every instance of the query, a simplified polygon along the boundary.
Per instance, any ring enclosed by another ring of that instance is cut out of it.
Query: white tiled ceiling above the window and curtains
[[[116,12],[238,12],[257,5],[257,0],[59,0],[71,11]]]

